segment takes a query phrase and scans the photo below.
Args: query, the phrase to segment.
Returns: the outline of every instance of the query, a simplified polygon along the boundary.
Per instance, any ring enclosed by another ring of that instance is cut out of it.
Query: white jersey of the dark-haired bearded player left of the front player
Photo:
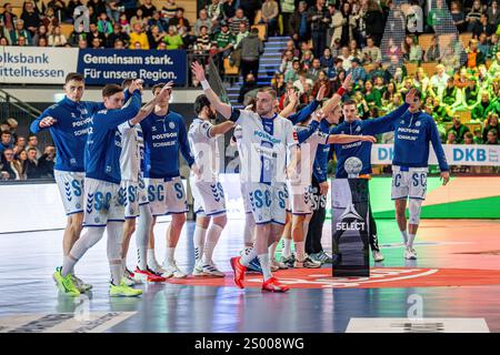
[[[198,118],[192,121],[188,131],[189,146],[200,169],[200,181],[203,182],[219,181],[220,153],[218,136],[210,136],[212,126],[209,121]]]

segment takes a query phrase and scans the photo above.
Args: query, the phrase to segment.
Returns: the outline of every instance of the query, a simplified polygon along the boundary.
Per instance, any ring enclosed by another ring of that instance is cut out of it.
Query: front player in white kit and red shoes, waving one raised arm
[[[242,148],[241,172],[248,186],[248,196],[252,203],[252,214],[256,220],[256,242],[253,248],[242,256],[231,258],[234,270],[234,283],[243,288],[246,266],[256,256],[259,257],[263,274],[263,291],[286,292],[289,287],[282,285],[272,276],[268,247],[274,242],[273,236],[280,236],[286,220],[286,174],[294,170],[300,152],[293,125],[273,112],[276,92],[261,89],[257,94],[257,113],[248,110],[232,109],[222,103],[206,80],[204,70],[198,62],[192,64],[192,71],[207,98],[216,110],[226,119],[241,125]],[[287,151],[292,151],[290,164],[286,164]],[[241,153],[241,152],[240,152]]]

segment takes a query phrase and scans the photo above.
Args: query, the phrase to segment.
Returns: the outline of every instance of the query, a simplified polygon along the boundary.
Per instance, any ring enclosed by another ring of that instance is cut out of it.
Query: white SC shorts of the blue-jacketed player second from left
[[[126,200],[126,191],[119,184],[86,178],[83,225],[106,226],[108,222],[124,222]]]

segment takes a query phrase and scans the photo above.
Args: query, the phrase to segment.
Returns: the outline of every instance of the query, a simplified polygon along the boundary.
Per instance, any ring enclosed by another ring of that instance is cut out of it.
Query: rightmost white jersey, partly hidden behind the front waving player
[[[308,126],[296,125],[294,130],[299,136],[301,131],[308,130]],[[298,181],[291,181],[292,184],[310,185],[312,184],[312,165],[316,160],[316,151],[319,144],[327,144],[329,134],[320,132],[318,129],[306,141],[300,143],[300,164],[297,168]]]

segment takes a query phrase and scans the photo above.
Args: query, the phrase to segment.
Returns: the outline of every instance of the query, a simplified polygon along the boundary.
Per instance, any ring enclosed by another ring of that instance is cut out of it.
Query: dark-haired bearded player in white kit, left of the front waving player
[[[199,169],[199,176],[191,173],[190,185],[194,199],[197,224],[194,227],[194,276],[223,277],[212,261],[213,250],[227,224],[226,199],[219,182],[220,154],[218,136],[232,129],[233,123],[226,121],[212,124],[217,111],[206,95],[194,101],[193,120],[188,131],[189,145]],[[210,223],[211,221],[211,223]]]

